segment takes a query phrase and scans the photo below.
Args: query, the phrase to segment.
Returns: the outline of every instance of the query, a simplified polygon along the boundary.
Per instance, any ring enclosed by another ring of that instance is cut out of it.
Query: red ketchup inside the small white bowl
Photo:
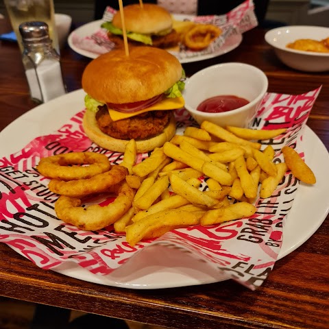
[[[199,103],[197,110],[207,113],[220,113],[235,110],[241,108],[249,103],[247,99],[237,97],[234,95],[219,95],[210,97]]]

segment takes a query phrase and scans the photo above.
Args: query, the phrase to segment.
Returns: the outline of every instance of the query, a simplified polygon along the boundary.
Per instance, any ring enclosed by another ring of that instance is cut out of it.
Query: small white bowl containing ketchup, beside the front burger
[[[185,108],[201,125],[205,120],[225,127],[247,127],[267,92],[268,80],[256,66],[238,62],[216,64],[192,75],[185,84]],[[218,95],[234,95],[249,103],[236,110],[206,113],[197,110],[199,103]]]

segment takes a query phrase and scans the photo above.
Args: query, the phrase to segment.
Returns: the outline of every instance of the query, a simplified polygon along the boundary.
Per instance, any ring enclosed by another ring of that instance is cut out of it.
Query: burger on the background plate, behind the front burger
[[[152,3],[126,5],[123,8],[127,40],[132,46],[147,45],[158,48],[175,47],[180,36],[173,29],[171,14],[159,5]],[[123,49],[123,24],[121,14],[114,14],[112,22],[101,27],[108,29],[108,38],[116,49]]]

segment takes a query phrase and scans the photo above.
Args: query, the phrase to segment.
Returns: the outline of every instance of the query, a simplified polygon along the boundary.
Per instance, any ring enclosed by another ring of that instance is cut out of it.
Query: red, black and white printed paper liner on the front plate
[[[302,95],[268,93],[251,127],[276,129],[287,127],[284,136],[263,141],[263,147],[276,149],[275,162],[282,160],[280,149],[291,145],[303,155],[302,132],[320,88]],[[84,134],[78,112],[58,132],[40,136],[16,154],[0,159],[0,241],[32,260],[42,269],[56,269],[75,262],[99,276],[106,276],[128,260],[138,262],[138,255],[149,245],[158,244],[183,249],[203,259],[250,289],[263,283],[273,269],[282,245],[282,221],[287,216],[298,188],[298,181],[286,173],[273,196],[257,199],[257,212],[248,219],[215,226],[194,226],[174,230],[164,236],[130,247],[123,234],[112,226],[97,232],[82,231],[56,217],[53,204],[58,195],[48,190],[48,179],[35,167],[40,158],[70,151],[105,153],[119,164],[122,154],[106,151],[90,142]],[[197,125],[186,110],[175,112],[178,133]],[[147,154],[138,155],[138,162]],[[202,188],[206,188],[206,183]]]

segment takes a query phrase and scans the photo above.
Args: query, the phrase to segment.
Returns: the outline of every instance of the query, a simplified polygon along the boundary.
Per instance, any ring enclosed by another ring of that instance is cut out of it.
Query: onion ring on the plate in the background
[[[221,35],[219,27],[212,24],[197,24],[189,29],[184,36],[184,44],[192,50],[202,50]]]

